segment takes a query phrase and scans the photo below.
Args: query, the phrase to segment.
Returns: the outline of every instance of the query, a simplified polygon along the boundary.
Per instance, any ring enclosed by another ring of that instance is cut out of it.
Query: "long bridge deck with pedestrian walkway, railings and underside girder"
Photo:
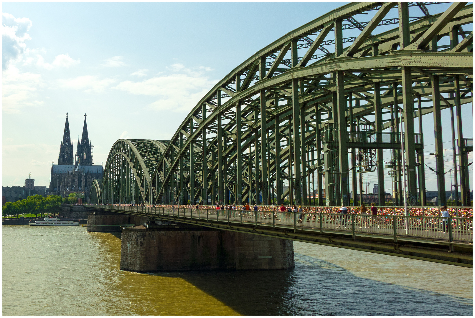
[[[472,267],[471,218],[89,206],[215,229]],[[445,224],[447,223],[447,224]],[[451,224],[451,226],[447,226]],[[444,234],[443,226],[446,226]]]

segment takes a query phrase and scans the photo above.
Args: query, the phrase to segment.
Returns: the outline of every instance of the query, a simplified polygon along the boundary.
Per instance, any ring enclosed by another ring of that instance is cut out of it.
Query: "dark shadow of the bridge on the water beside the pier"
[[[295,269],[152,273],[184,279],[242,315],[472,315],[472,299],[353,275],[295,254]],[[421,286],[423,287],[423,286]]]

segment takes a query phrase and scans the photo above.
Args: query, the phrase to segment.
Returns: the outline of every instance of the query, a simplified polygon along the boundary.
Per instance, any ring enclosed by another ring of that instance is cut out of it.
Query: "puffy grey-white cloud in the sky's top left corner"
[[[28,30],[33,24],[28,18],[15,18],[9,13],[2,17],[2,62],[6,70],[11,61],[21,57],[26,49],[26,40],[30,40]]]

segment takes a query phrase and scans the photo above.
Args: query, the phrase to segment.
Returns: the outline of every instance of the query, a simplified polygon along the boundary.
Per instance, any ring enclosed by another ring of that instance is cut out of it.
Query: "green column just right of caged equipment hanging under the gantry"
[[[376,128],[377,140],[382,142],[383,115],[381,108],[380,83],[374,83],[374,127]],[[378,168],[378,205],[384,206],[384,162],[383,150],[376,150],[376,161]]]

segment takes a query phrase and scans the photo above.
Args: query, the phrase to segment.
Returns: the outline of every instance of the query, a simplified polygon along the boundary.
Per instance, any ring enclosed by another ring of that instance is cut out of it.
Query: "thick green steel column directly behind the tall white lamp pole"
[[[408,202],[409,206],[417,204],[416,185],[416,148],[414,143],[414,100],[412,96],[411,68],[402,67],[402,103],[404,104],[404,149],[406,150],[406,165],[408,166]]]

